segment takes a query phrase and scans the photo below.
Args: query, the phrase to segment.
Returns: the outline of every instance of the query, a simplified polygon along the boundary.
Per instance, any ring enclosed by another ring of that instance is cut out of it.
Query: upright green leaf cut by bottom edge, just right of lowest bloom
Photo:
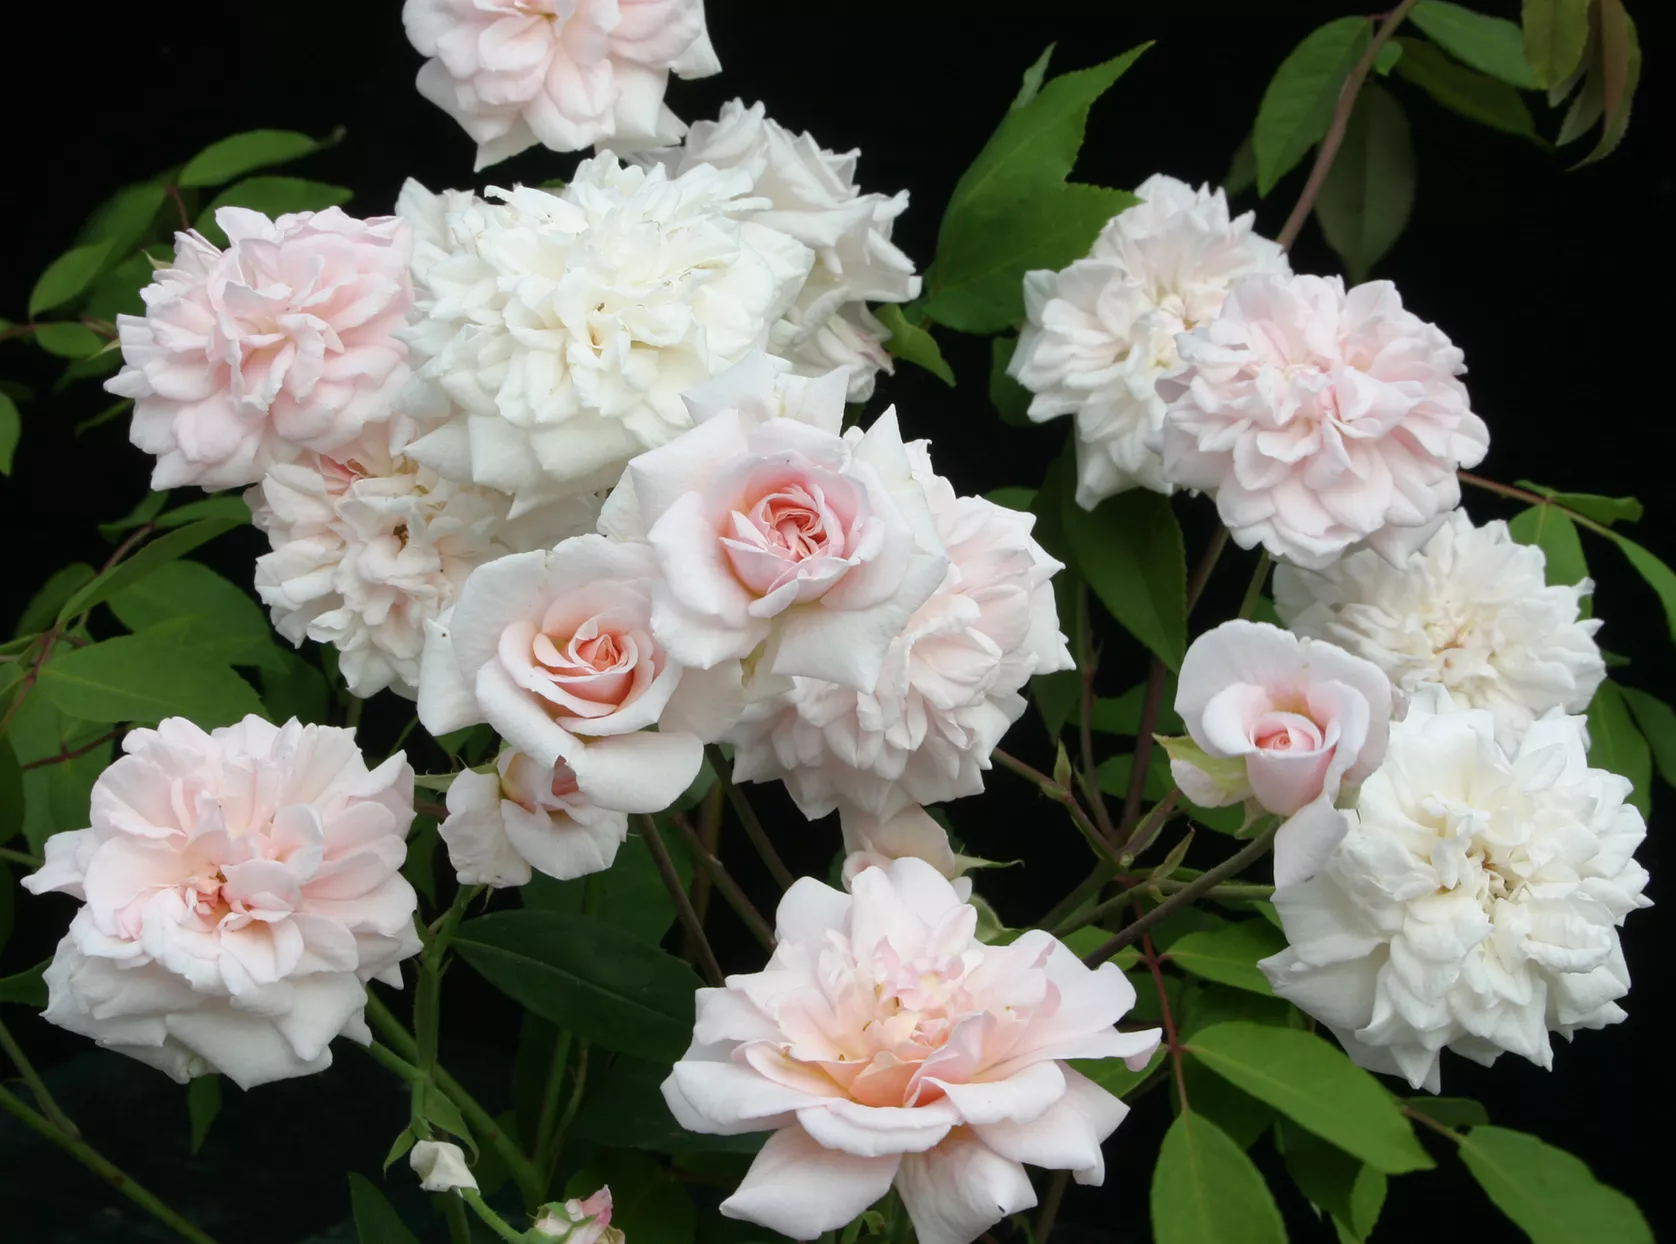
[[[1285,1244],[1269,1185],[1229,1135],[1182,1112],[1165,1133],[1151,1182],[1156,1244]]]

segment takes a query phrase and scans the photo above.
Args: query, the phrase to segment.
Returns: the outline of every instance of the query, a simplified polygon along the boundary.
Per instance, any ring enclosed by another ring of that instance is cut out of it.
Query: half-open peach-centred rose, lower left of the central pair
[[[657,583],[650,548],[598,535],[478,567],[449,620],[429,624],[419,721],[432,734],[486,721],[555,775],[555,796],[662,811],[699,775],[684,728],[721,728],[727,682],[691,677],[654,637]]]

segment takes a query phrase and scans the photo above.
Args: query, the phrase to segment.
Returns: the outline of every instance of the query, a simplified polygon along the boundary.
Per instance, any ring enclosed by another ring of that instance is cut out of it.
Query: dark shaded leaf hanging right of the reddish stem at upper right
[[[1321,186],[1316,220],[1351,280],[1361,282],[1396,245],[1413,210],[1415,139],[1408,117],[1389,91],[1368,82]]]

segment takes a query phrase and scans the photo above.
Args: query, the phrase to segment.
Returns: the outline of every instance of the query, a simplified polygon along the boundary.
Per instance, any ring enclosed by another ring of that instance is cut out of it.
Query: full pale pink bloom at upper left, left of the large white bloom
[[[176,233],[174,267],[141,290],[146,314],[117,315],[126,365],[106,389],[134,399],[153,488],[240,488],[337,449],[407,381],[394,335],[412,305],[406,223],[337,208],[215,218],[228,248]]]

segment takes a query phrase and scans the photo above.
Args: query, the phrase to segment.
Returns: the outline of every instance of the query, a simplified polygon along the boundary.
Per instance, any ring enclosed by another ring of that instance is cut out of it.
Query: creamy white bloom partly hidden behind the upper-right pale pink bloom
[[[1026,322],[1007,372],[1034,397],[1037,422],[1076,417],[1076,503],[1093,510],[1130,488],[1172,491],[1158,449],[1160,376],[1182,359],[1175,337],[1217,315],[1240,277],[1291,272],[1285,251],[1229,216],[1222,189],[1163,173],[1101,230],[1088,258],[1024,275]]]

